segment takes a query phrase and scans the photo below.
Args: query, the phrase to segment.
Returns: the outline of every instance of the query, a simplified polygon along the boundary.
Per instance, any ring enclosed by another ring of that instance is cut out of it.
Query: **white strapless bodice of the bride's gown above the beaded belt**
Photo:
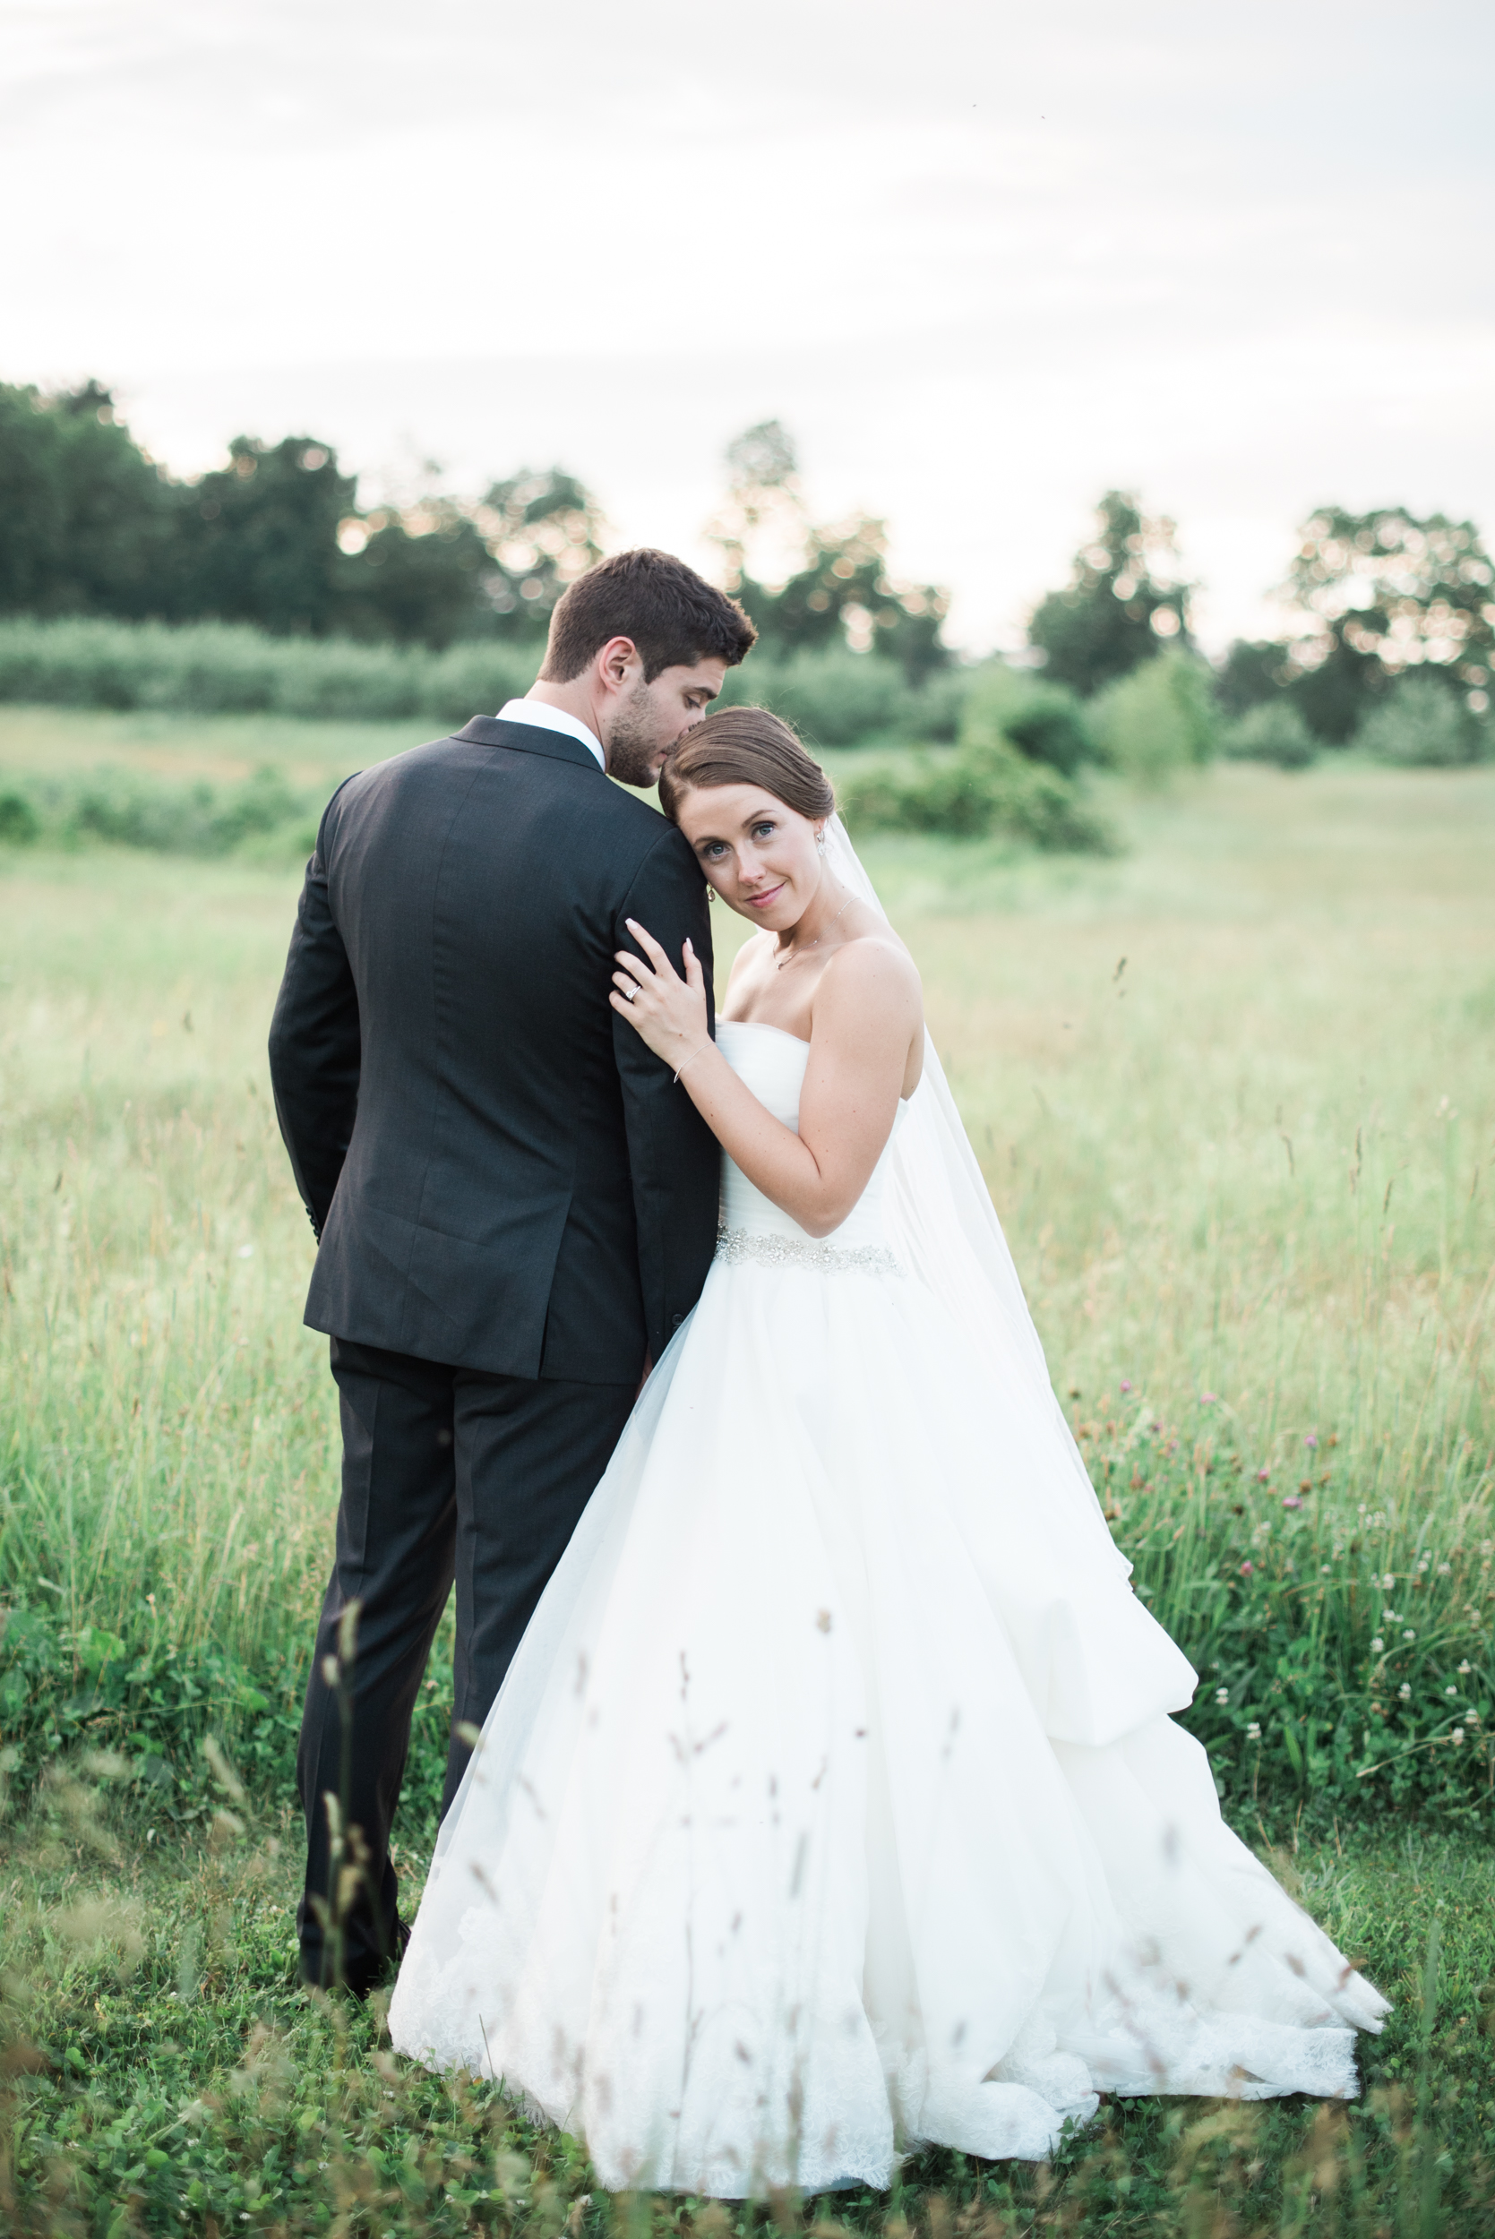
[[[727,1059],[741,1081],[752,1088],[759,1104],[799,1133],[799,1090],[810,1059],[810,1043],[797,1034],[786,1034],[777,1025],[756,1025],[743,1019],[716,1021],[716,1048]],[[904,1117],[888,1135],[882,1158],[873,1167],[871,1180],[853,1205],[839,1229],[824,1238],[810,1236],[772,1198],[748,1180],[743,1169],[723,1153],[721,1160],[721,1245],[716,1256],[725,1261],[752,1258],[759,1263],[810,1265],[839,1270],[846,1265],[893,1272],[897,1267],[888,1247],[884,1225],[884,1191],[893,1142]]]

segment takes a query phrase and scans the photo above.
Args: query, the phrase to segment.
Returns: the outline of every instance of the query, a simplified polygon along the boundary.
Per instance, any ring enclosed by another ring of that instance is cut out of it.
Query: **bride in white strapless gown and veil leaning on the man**
[[[660,781],[759,931],[709,1037],[613,1008],[723,1144],[645,1384],[452,1805],[389,2008],[611,2190],[1047,2156],[1099,2091],[1352,2096],[1385,2002],[1224,1827],[819,766],[754,708]]]

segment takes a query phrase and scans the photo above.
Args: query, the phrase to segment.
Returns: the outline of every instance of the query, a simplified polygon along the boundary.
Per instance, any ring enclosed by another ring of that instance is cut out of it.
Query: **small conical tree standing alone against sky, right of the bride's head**
[[[1164,645],[1191,643],[1191,587],[1179,580],[1173,535],[1173,522],[1146,519],[1130,493],[1106,493],[1070,584],[1050,591],[1027,625],[1052,683],[1088,699]]]

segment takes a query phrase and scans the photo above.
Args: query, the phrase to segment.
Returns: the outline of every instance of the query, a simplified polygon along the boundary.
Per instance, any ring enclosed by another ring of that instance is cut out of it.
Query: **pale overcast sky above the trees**
[[[0,0],[0,378],[696,560],[777,414],[971,647],[1121,484],[1220,645],[1323,499],[1495,533],[1493,83],[1491,0]]]

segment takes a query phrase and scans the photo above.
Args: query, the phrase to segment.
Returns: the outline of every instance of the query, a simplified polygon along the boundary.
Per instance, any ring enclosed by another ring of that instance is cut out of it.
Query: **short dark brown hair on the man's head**
[[[600,560],[562,593],[539,678],[568,685],[609,638],[633,640],[649,685],[662,669],[694,669],[698,661],[734,669],[756,636],[739,602],[694,566],[640,546]]]

